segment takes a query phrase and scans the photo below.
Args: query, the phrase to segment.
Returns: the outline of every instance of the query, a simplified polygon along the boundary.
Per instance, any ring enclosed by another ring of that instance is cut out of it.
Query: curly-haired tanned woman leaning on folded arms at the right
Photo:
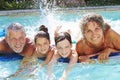
[[[104,63],[109,55],[120,51],[120,35],[95,13],[83,16],[80,22],[83,38],[76,44],[79,61],[90,61],[98,55],[98,60]]]

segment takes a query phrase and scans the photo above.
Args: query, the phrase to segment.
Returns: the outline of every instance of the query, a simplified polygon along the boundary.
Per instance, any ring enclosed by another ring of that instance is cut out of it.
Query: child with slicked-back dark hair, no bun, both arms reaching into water
[[[51,61],[48,64],[48,76],[51,76],[52,66],[55,62],[61,61],[62,58],[63,62],[64,60],[68,61],[68,67],[66,70],[64,70],[62,77],[60,80],[65,80],[70,69],[73,67],[73,65],[77,62],[78,55],[76,51],[72,50],[72,40],[71,36],[68,32],[61,32],[55,35],[55,45],[56,50],[54,52],[54,55],[51,59]]]

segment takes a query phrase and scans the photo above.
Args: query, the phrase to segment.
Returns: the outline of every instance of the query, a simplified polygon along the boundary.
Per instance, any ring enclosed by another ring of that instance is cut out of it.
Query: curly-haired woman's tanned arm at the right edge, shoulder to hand
[[[111,53],[120,52],[120,35],[117,32],[109,29],[106,33],[105,39],[107,41],[107,46],[98,56],[98,60],[101,63],[106,62]]]

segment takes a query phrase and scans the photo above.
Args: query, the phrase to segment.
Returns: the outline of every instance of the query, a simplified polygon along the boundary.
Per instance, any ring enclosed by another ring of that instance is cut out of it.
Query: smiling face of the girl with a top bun
[[[38,38],[36,39],[36,49],[38,53],[47,54],[50,48],[50,42],[46,38]]]

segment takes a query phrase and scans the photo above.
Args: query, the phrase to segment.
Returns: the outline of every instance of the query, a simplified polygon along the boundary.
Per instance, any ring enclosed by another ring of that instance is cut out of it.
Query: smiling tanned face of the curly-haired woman
[[[93,45],[98,45],[103,39],[103,30],[96,22],[88,22],[85,28],[84,37]]]

